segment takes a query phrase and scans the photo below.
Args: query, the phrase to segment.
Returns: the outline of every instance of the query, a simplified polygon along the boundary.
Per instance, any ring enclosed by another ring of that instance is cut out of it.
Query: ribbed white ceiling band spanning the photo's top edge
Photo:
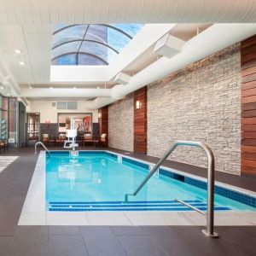
[[[0,23],[255,22],[255,0],[1,0]]]

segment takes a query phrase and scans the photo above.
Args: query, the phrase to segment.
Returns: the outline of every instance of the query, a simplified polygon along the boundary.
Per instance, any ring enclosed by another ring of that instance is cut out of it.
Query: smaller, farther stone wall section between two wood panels
[[[108,107],[108,146],[133,151],[133,94]]]

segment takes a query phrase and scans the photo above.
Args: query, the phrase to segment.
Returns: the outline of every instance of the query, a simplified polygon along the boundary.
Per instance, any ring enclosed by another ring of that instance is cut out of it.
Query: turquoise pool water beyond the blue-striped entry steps
[[[124,162],[103,153],[51,154],[46,158],[46,201],[94,202],[124,201],[148,174],[146,168]],[[159,175],[148,183],[130,201],[183,201],[207,202],[207,191],[188,183]],[[255,211],[238,201],[215,195],[215,205],[232,210]]]

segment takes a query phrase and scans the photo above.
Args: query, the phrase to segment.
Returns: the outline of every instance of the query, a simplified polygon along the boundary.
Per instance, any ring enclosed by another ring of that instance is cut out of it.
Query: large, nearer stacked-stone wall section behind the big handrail
[[[160,156],[176,140],[200,141],[212,148],[217,170],[239,174],[240,63],[236,44],[148,85],[148,154]],[[172,160],[205,166],[206,159],[183,148]]]

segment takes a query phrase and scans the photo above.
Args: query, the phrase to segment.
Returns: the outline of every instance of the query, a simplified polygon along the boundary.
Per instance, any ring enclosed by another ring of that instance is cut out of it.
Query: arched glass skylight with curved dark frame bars
[[[143,24],[75,24],[55,26],[53,65],[108,65]]]

